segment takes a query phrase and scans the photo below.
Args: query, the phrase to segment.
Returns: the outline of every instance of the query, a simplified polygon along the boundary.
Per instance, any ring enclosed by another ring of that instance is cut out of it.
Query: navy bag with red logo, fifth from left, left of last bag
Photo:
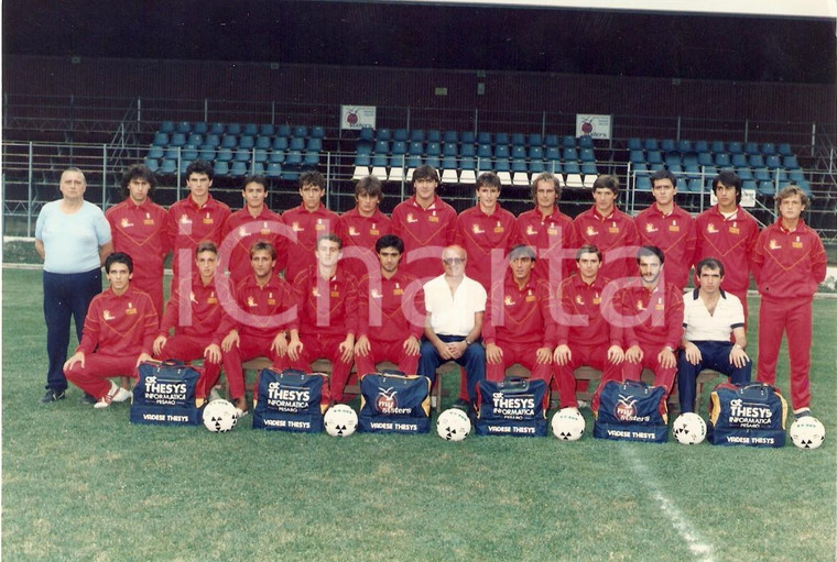
[[[599,394],[593,437],[664,443],[668,440],[665,387],[641,381],[608,381]]]

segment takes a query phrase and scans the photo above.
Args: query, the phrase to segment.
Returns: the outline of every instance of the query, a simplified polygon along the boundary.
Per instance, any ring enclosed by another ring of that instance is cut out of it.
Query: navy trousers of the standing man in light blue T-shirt
[[[46,320],[46,355],[50,370],[46,387],[65,390],[64,362],[69,345],[69,320],[76,322],[76,335],[81,341],[81,330],[90,300],[101,293],[101,269],[85,273],[44,272],[44,320]]]

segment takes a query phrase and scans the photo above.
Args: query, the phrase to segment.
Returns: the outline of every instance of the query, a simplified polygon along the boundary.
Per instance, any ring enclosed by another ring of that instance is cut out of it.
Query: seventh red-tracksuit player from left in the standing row
[[[465,266],[468,276],[489,289],[506,276],[506,255],[518,239],[518,221],[500,207],[500,178],[485,172],[477,178],[477,205],[456,220],[456,244],[471,258]]]

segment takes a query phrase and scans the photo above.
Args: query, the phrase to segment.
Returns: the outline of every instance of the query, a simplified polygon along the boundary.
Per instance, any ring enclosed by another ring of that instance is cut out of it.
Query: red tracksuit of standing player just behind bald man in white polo
[[[427,282],[444,273],[442,250],[456,238],[456,211],[439,196],[423,209],[413,196],[392,211],[392,233],[404,241],[400,268]]]

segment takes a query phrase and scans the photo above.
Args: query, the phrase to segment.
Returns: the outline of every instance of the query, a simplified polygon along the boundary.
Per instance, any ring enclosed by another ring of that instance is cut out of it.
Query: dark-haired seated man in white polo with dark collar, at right
[[[741,301],[720,288],[724,264],[714,257],[697,264],[698,288],[683,296],[685,330],[677,361],[681,411],[693,411],[695,381],[704,368],[729,376],[732,383],[750,381],[744,310]],[[730,333],[732,340],[730,340]],[[735,343],[733,343],[735,342]]]

